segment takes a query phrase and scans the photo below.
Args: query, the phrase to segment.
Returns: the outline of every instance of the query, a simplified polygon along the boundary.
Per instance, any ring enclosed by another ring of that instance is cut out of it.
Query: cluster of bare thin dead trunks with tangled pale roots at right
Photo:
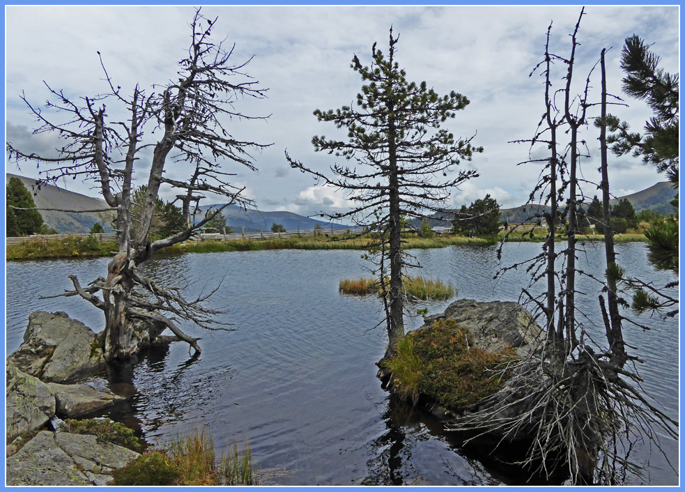
[[[587,98],[590,76],[584,95],[574,98],[570,93],[578,46],[576,37],[583,15],[581,10],[571,36],[569,58],[550,54],[548,36],[543,62],[546,68],[546,114],[543,116],[546,128],[539,130],[532,139],[532,144],[545,144],[551,150],[551,157],[544,160],[546,165],[535,191],[543,190],[546,199],[552,203],[566,203],[568,246],[560,252],[562,270],[553,270],[557,255],[549,242],[555,233],[552,220],[543,252],[502,270],[506,272],[525,266],[531,275],[531,285],[546,280],[545,293],[534,295],[531,293],[533,289],[528,288],[523,289],[521,296],[525,303],[534,307],[536,318],[544,318],[546,337],[533,351],[522,353],[509,362],[503,368],[509,379],[502,390],[480,402],[473,413],[459,419],[452,429],[475,429],[477,436],[494,434],[502,440],[527,440],[527,452],[517,461],[528,467],[531,473],[549,477],[556,470],[566,470],[572,484],[616,484],[620,470],[640,475],[641,466],[629,459],[635,440],[646,438],[659,447],[659,433],[677,438],[678,424],[656,408],[640,387],[642,379],[636,370],[636,363],[640,360],[636,355],[626,354],[622,343],[621,321],[626,318],[617,314],[618,317],[611,320],[601,303],[601,316],[594,318],[604,323],[595,323],[589,313],[578,310],[575,302],[576,295],[580,295],[575,283],[579,275],[597,280],[608,292],[615,289],[609,278],[602,279],[593,272],[584,272],[575,263],[578,251],[575,211],[578,196],[582,196],[582,191],[578,192],[578,130],[585,122],[586,110],[594,106]],[[554,98],[550,97],[551,61],[562,61],[567,65],[564,86],[558,91],[564,100],[563,110],[558,113],[553,104]],[[603,93],[603,107],[606,107],[606,91]],[[572,100],[576,100],[575,105],[571,104]],[[552,118],[552,114],[560,116]],[[606,109],[603,114],[606,114]],[[562,161],[557,158],[557,140],[553,130],[561,121],[569,125],[570,159],[557,168],[555,164]],[[551,139],[542,137],[546,132],[550,132]],[[603,150],[606,155],[605,145]],[[603,165],[606,167],[606,158]],[[552,172],[555,170],[564,172],[557,177]],[[557,179],[560,180],[559,187],[555,184]],[[603,187],[608,192],[606,174],[604,180]],[[613,251],[613,248],[607,248],[607,251]],[[607,277],[610,277],[616,270],[610,254],[608,262]],[[613,298],[613,302],[617,303],[614,306],[617,308],[621,300]],[[596,328],[604,328],[597,331],[606,333],[606,345],[595,339],[592,330],[588,329],[590,323],[596,324]]]

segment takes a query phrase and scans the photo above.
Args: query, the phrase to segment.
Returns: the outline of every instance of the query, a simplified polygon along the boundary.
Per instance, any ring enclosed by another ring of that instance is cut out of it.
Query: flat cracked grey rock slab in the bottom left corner
[[[137,456],[95,436],[41,431],[7,459],[7,485],[104,485]]]

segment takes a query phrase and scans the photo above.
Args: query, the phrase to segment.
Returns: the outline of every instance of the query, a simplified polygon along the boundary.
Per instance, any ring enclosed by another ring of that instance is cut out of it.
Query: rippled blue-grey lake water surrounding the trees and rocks
[[[539,243],[508,243],[502,265],[534,256]],[[417,256],[426,277],[451,282],[459,298],[518,300],[528,284],[522,269],[507,273],[497,284],[500,268],[495,246],[422,249]],[[663,284],[674,275],[655,271],[641,243],[617,245],[618,261],[631,275]],[[108,259],[10,262],[6,265],[6,350],[22,342],[29,314],[64,311],[95,331],[103,316],[78,298],[39,300],[71,289],[67,275],[80,282],[105,275]],[[380,388],[375,362],[385,351],[378,300],[341,295],[342,278],[364,275],[357,251],[261,251],[183,254],[146,265],[153,278],[185,284],[187,296],[220,287],[210,306],[226,309],[222,321],[236,332],[206,332],[202,353],[191,357],[187,344],[148,353],[137,364],[121,367],[96,386],[132,383],[130,406],[113,417],[139,427],[148,443],[159,444],[180,433],[205,426],[217,446],[249,440],[260,469],[275,474],[279,485],[477,485],[516,484],[518,477],[482,457],[464,452],[453,433],[420,412],[391,401]],[[578,268],[601,274],[603,245],[588,245]],[[590,332],[603,341],[599,323],[599,286],[580,279],[578,304],[590,319]],[[541,289],[541,287],[540,287]],[[451,301],[422,302],[429,313],[442,312]],[[633,316],[633,315],[631,315]],[[635,316],[633,316],[634,318]],[[648,332],[626,325],[631,353],[639,364],[644,387],[669,415],[677,419],[679,391],[679,326],[677,319],[640,316]],[[422,318],[408,318],[410,327]],[[678,445],[661,438],[677,467]],[[677,484],[677,473],[648,443],[638,443],[633,456],[647,467],[645,482]]]

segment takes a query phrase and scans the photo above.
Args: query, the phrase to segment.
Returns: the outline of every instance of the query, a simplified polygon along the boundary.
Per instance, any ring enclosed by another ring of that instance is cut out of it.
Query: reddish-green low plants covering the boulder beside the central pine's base
[[[397,354],[381,364],[399,397],[415,403],[424,396],[461,412],[502,387],[507,374],[500,369],[514,354],[512,348],[484,351],[474,346],[468,330],[444,319],[408,333]]]

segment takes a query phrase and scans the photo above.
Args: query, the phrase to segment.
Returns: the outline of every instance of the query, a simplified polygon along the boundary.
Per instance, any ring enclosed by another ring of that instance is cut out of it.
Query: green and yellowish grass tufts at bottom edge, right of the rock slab
[[[217,457],[212,436],[203,429],[173,439],[163,449],[146,452],[115,470],[110,485],[256,485],[256,477],[249,444],[245,452],[239,452],[234,443],[227,454]]]

